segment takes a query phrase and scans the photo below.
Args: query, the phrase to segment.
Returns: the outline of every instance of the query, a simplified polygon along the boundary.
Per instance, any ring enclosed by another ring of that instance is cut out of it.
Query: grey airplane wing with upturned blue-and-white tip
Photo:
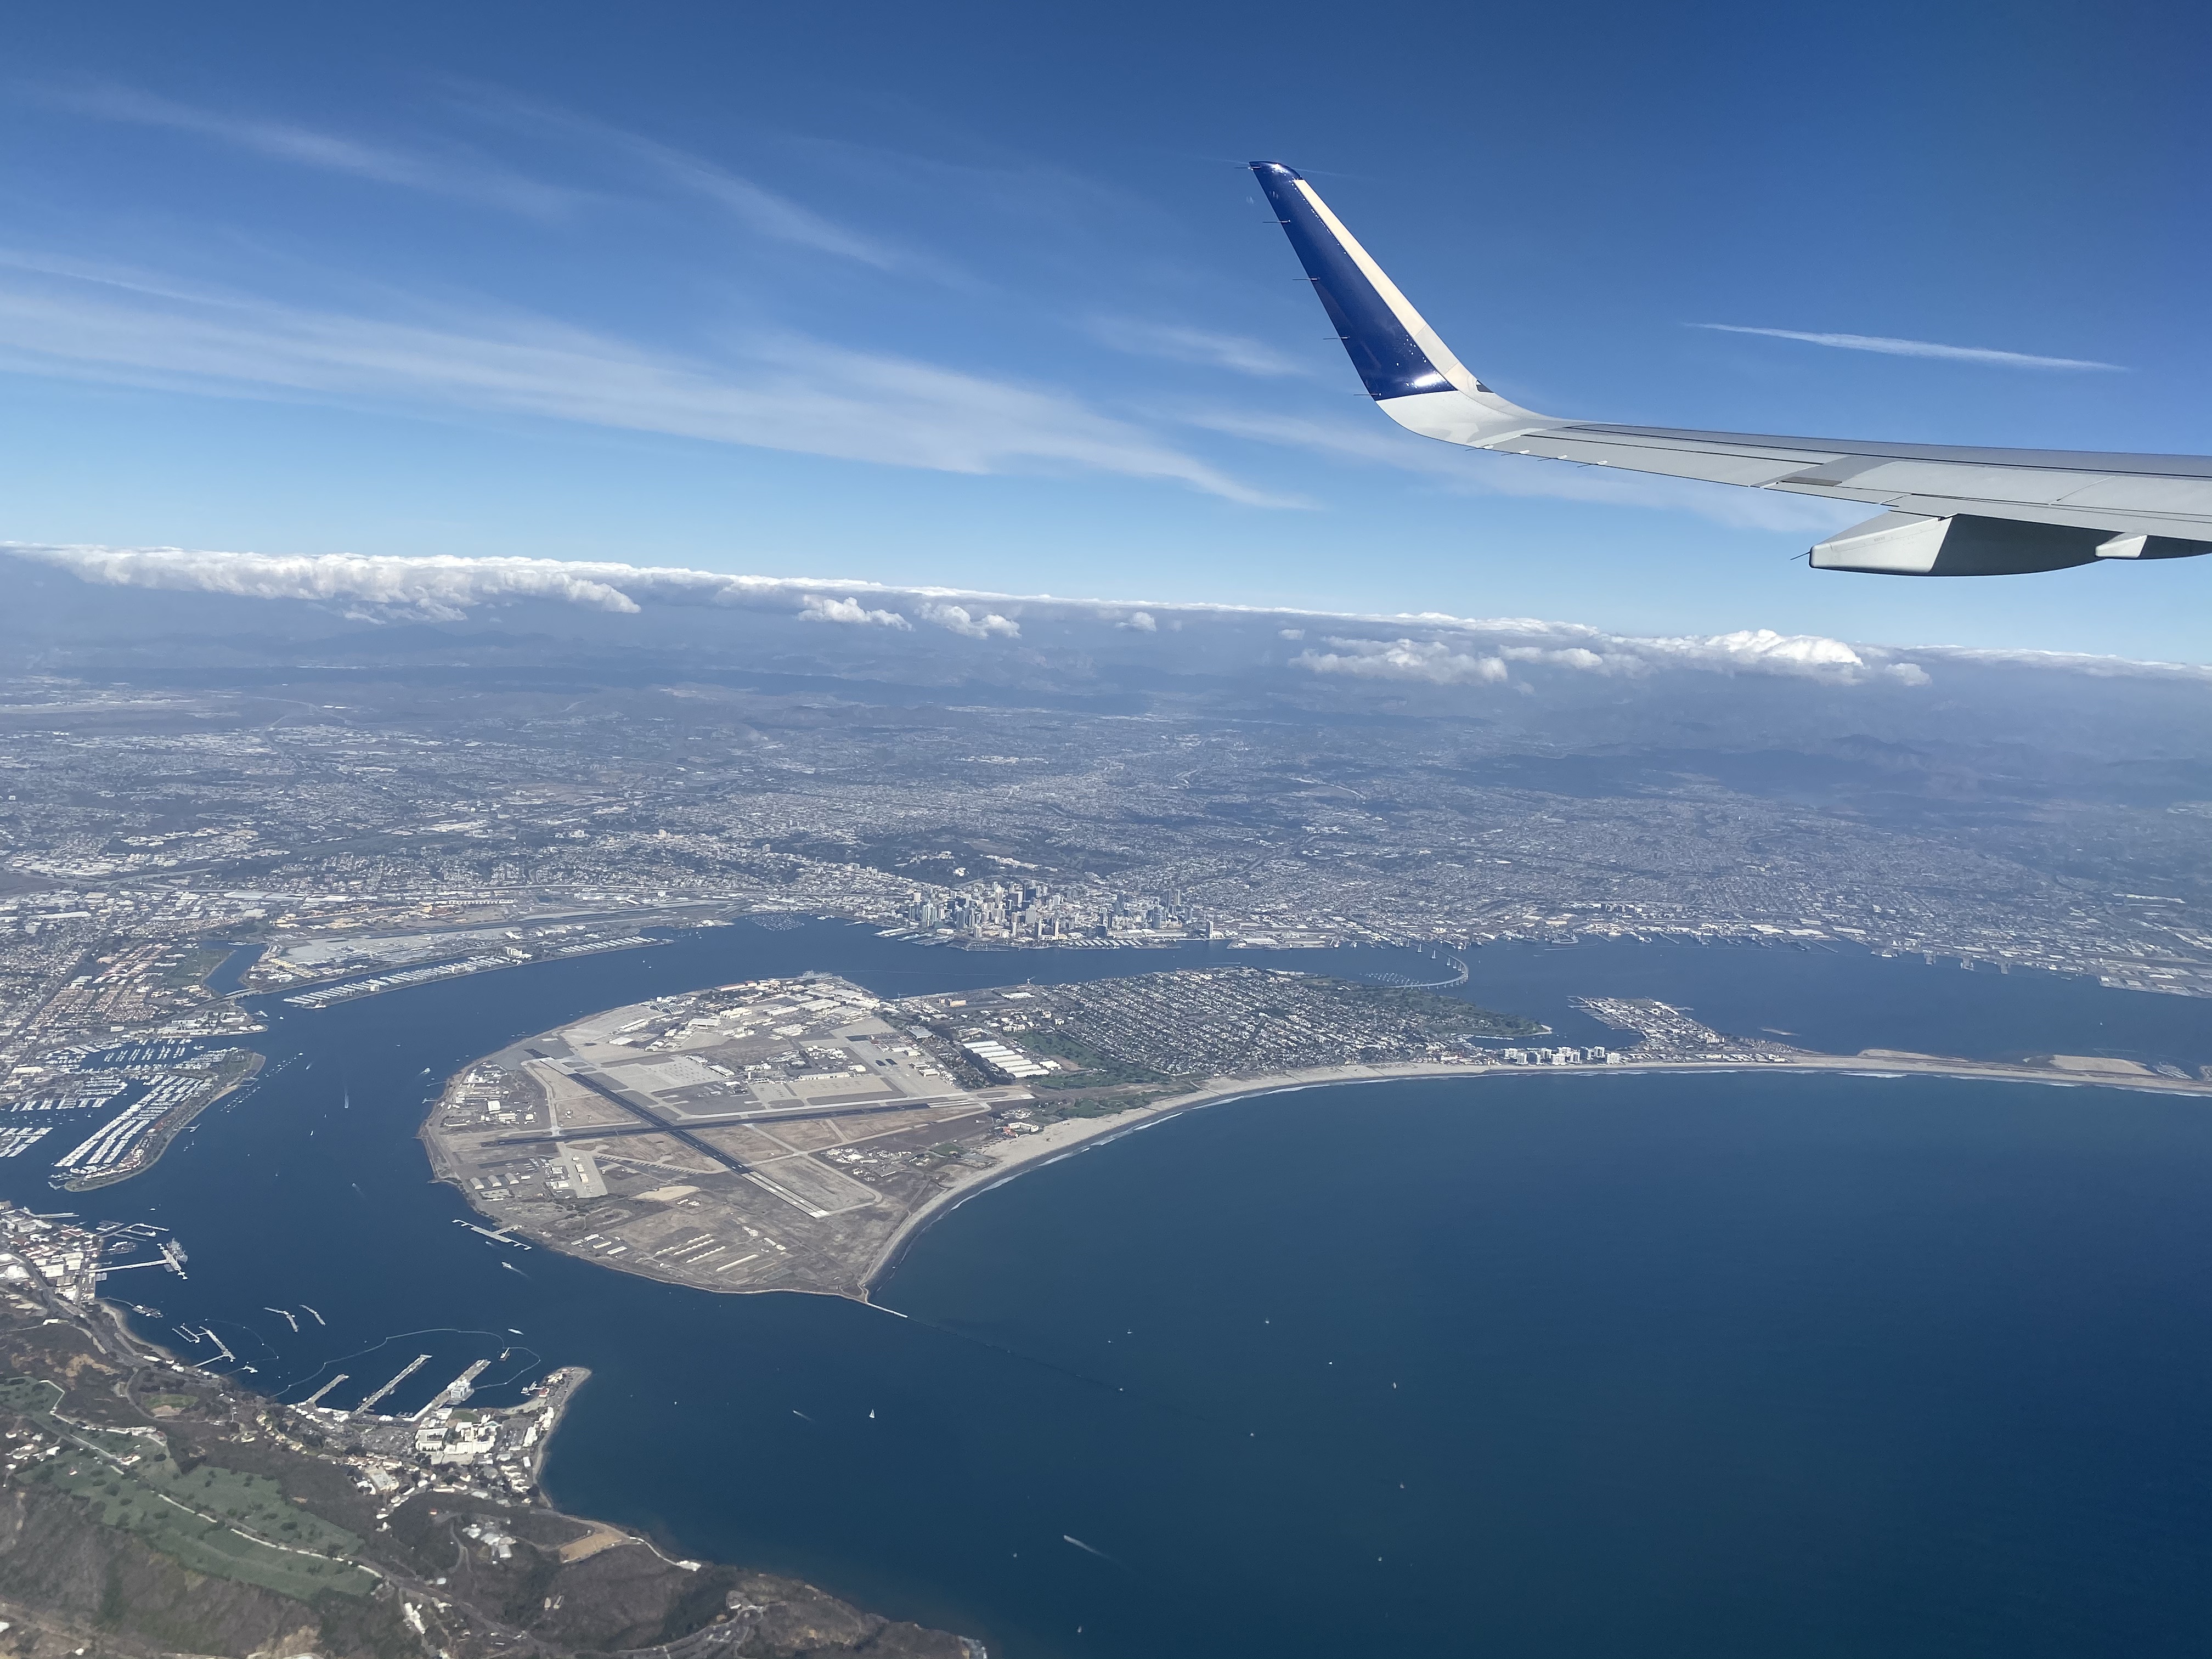
[[[2212,456],[1677,431],[1522,409],[1467,372],[1314,186],[1281,161],[1252,173],[1367,394],[1422,438],[1889,509],[1812,549],[1820,571],[2015,575],[2212,553]]]

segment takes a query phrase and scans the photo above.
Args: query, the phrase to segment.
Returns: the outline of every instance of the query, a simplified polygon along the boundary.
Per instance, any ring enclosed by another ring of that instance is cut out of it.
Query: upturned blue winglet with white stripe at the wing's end
[[[1467,372],[1460,358],[1451,354],[1451,347],[1436,336],[1436,330],[1398,292],[1398,285],[1383,274],[1383,268],[1345,230],[1343,221],[1329,212],[1329,206],[1314,192],[1314,186],[1281,161],[1252,161],[1252,177],[1265,190],[1267,201],[1274,206],[1274,217],[1281,221],[1292,250],[1298,254],[1298,263],[1305,265],[1314,292],[1321,296],[1323,310],[1336,323],[1336,334],[1345,343],[1352,367],[1358,369],[1360,380],[1367,385],[1367,396],[1396,416],[1400,425],[1427,431],[1436,422],[1425,416],[1442,411],[1427,405],[1391,409],[1389,405],[1396,398],[1433,398],[1440,392],[1460,394],[1480,405],[1480,409],[1467,414],[1475,414],[1484,427],[1502,429],[1544,420],[1544,416],[1506,403]],[[1449,403],[1458,405],[1460,398],[1449,398]],[[1416,425],[1407,416],[1422,418]],[[1449,425],[1464,427],[1464,420]],[[1442,434],[1429,431],[1427,436]],[[1467,442],[1464,436],[1455,436],[1453,440]]]

